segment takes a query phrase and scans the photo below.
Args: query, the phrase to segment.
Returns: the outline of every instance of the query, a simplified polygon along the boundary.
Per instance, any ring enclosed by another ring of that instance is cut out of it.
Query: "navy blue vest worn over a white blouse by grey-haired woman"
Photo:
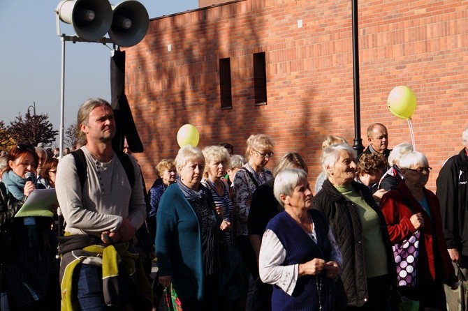
[[[284,266],[304,264],[314,258],[330,261],[332,245],[328,240],[328,222],[321,211],[310,209],[309,215],[314,221],[318,243],[304,232],[290,215],[281,212],[268,222],[267,229],[275,232],[286,249]],[[319,291],[317,280],[321,279],[320,303],[322,311],[335,309],[335,282],[327,278],[323,271],[319,278],[316,275],[303,275],[298,278],[292,296],[274,285],[272,310],[314,311],[319,310]],[[319,282],[320,285],[320,282]]]

